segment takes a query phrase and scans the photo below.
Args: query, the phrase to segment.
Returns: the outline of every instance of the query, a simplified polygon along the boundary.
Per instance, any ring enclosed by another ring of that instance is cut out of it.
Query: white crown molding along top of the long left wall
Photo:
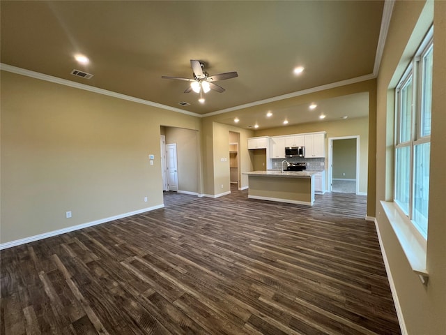
[[[61,85],[69,86],[69,87],[74,87],[75,89],[84,89],[85,91],[91,91],[93,93],[103,94],[105,96],[112,96],[114,98],[132,101],[134,103],[141,103],[143,105],[149,105],[152,107],[162,108],[163,110],[171,110],[172,112],[187,114],[192,117],[202,117],[201,114],[197,114],[194,112],[188,112],[187,110],[180,110],[179,108],[162,105],[160,103],[153,103],[152,101],[148,101],[148,100],[144,100],[144,99],[140,99],[140,98],[134,98],[133,96],[126,96],[125,94],[108,91],[107,89],[100,89],[98,87],[81,84],[79,82],[72,82],[71,80],[53,77],[52,75],[44,75],[43,73],[26,70],[24,68],[17,68],[17,66],[0,63],[0,70],[5,70],[8,72],[16,73],[17,75],[26,75],[27,77],[33,77],[36,79],[45,80],[47,82],[54,82],[55,84],[61,84]]]

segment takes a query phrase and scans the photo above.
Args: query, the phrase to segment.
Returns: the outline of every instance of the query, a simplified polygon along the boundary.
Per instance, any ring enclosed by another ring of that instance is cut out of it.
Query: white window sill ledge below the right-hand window
[[[426,269],[426,239],[416,230],[409,218],[399,211],[394,202],[381,201],[387,219],[397,235],[412,270],[426,284],[429,274]]]

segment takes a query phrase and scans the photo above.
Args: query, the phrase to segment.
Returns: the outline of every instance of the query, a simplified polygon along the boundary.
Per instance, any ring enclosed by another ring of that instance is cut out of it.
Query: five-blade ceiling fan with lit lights
[[[204,70],[204,63],[202,61],[194,61],[191,59],[190,66],[192,67],[194,79],[182,77],[167,77],[165,75],[162,76],[162,79],[185,80],[187,82],[190,82],[190,87],[187,87],[184,93],[194,91],[195,93],[200,94],[199,101],[201,103],[204,103],[203,93],[208,93],[208,91],[210,91],[211,89],[219,93],[224,92],[224,88],[217,84],[214,84],[214,82],[217,82],[218,80],[226,80],[233,77],[238,77],[238,73],[236,73],[236,71],[219,73],[217,75],[210,76]]]

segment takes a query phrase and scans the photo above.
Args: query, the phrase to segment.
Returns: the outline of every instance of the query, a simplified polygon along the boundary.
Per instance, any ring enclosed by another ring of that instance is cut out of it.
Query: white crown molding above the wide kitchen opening
[[[369,75],[362,75],[361,77],[355,77],[347,80],[341,80],[340,82],[332,82],[331,84],[325,84],[318,87],[312,87],[311,89],[304,89],[303,91],[297,91],[289,94],[284,94],[283,96],[273,96],[272,98],[254,101],[252,103],[245,103],[244,105],[238,105],[234,107],[225,108],[224,110],[216,110],[215,112],[210,112],[201,115],[201,117],[212,117],[213,115],[223,114],[227,112],[233,112],[234,110],[242,110],[243,108],[263,105],[266,103],[273,103],[275,101],[281,101],[289,98],[295,98],[296,96],[304,96],[305,94],[311,94],[318,91],[325,91],[326,89],[334,89],[336,87],[342,87],[349,84],[355,84],[357,82],[365,82],[366,80],[375,79],[376,75],[370,73]]]

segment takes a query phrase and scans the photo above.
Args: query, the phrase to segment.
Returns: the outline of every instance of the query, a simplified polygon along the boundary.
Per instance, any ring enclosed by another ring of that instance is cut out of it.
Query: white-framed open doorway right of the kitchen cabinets
[[[359,136],[328,139],[328,186],[330,192],[359,193]]]

